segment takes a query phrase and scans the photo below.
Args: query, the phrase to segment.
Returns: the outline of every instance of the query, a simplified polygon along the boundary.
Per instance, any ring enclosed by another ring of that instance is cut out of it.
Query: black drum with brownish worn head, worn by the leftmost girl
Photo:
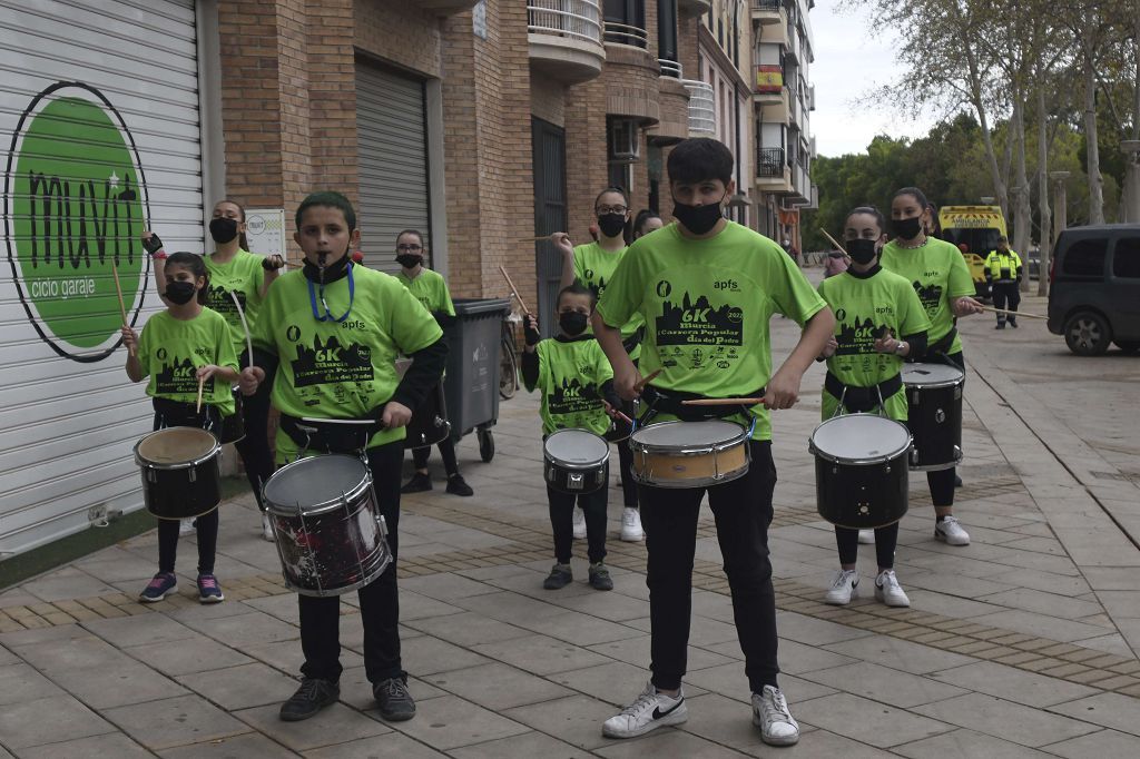
[[[135,444],[147,511],[163,520],[209,514],[221,503],[221,446],[198,427],[166,427]]]

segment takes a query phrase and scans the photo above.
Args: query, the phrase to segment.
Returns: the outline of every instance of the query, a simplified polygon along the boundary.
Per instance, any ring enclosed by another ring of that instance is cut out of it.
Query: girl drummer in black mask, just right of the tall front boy
[[[863,206],[852,211],[844,225],[850,267],[820,283],[820,295],[836,315],[836,333],[822,353],[828,360],[824,421],[840,411],[840,399],[841,413],[874,411],[897,422],[906,421],[903,359],[926,351],[930,323],[911,284],[878,263],[879,246],[887,238],[885,227],[877,209]],[[858,533],[860,530],[836,527],[839,570],[828,589],[829,604],[850,603],[857,593]],[[910,606],[895,577],[898,522],[876,528],[873,540],[879,560],[874,597],[888,606]]]

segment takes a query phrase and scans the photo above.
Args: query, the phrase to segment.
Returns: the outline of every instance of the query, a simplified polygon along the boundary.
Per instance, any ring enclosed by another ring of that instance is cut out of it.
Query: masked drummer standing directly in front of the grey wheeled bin
[[[427,309],[440,327],[446,327],[455,320],[455,305],[447,281],[437,271],[424,268],[424,256],[427,247],[424,236],[417,229],[405,229],[396,237],[396,260],[400,270],[396,274],[405,287],[416,300]],[[434,387],[431,392],[438,392]],[[439,455],[443,459],[443,471],[447,473],[447,491],[453,496],[473,496],[474,491],[459,474],[459,463],[455,458],[455,443],[445,438],[437,443]],[[412,449],[412,460],[416,473],[412,475],[400,492],[423,492],[431,490],[431,475],[427,473],[427,459],[431,457],[431,446]]]

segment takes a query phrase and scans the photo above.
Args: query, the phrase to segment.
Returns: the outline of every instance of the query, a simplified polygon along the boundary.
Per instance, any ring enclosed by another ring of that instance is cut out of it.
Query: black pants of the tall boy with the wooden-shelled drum
[[[752,463],[748,474],[708,488],[708,493],[732,590],[736,635],[744,652],[744,674],[752,691],[759,693],[765,685],[776,685],[780,672],[768,561],[776,470],[771,442],[752,441],[749,446]],[[652,682],[667,691],[681,687],[687,663],[697,520],[705,491],[637,485],[649,552],[645,585],[652,625]]]

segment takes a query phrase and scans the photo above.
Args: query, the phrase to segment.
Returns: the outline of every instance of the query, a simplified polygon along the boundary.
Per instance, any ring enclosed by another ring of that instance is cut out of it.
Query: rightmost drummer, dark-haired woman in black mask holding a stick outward
[[[930,319],[925,354],[910,360],[945,361],[966,370],[962,341],[955,323],[959,317],[980,313],[982,304],[971,297],[974,279],[961,251],[945,240],[929,237],[931,205],[922,190],[904,187],[890,202],[890,229],[895,239],[882,248],[879,263],[911,283]],[[936,522],[934,537],[951,546],[970,545],[970,536],[954,517],[954,468],[927,472]]]

